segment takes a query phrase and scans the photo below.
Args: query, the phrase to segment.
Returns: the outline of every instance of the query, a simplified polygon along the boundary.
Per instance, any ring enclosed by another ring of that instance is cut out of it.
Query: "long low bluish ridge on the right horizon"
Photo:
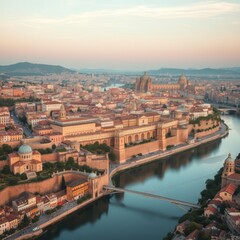
[[[149,70],[150,75],[240,75],[240,68],[203,68],[203,69],[181,69],[181,68],[160,68]]]

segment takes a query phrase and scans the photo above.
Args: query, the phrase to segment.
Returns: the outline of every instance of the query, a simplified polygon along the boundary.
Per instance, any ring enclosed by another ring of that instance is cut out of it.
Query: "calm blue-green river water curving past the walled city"
[[[197,203],[205,181],[223,166],[228,153],[240,152],[240,118],[224,116],[229,135],[196,149],[127,170],[116,186]],[[184,209],[156,199],[115,194],[79,210],[48,228],[39,239],[160,240],[174,230]]]

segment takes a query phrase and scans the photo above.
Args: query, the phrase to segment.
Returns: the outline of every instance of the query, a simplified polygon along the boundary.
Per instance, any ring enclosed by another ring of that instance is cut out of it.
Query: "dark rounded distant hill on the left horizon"
[[[9,76],[36,76],[63,72],[74,73],[75,71],[57,65],[34,64],[28,62],[0,66],[0,74]]]

